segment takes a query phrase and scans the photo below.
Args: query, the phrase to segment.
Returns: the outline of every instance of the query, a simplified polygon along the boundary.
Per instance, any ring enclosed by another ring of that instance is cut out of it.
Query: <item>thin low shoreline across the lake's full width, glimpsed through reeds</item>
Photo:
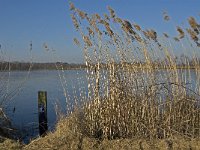
[[[91,64],[90,64],[91,65]],[[93,64],[94,65],[94,64]],[[109,64],[100,64],[100,68],[107,68]],[[120,67],[121,65],[115,64]],[[146,64],[125,64],[129,69],[148,69]],[[126,68],[125,67],[125,68]],[[87,68],[85,64],[69,64],[69,63],[24,63],[24,62],[0,62],[0,72],[4,71],[27,71],[27,70],[82,70]],[[95,66],[94,66],[95,68]],[[187,66],[187,65],[176,65],[176,66],[166,66],[166,65],[152,65],[153,70],[173,70],[173,69],[200,69],[200,66]]]

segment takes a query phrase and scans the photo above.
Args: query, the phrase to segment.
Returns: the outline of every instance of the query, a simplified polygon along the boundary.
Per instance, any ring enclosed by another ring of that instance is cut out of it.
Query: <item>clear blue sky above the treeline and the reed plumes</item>
[[[200,20],[200,0],[71,0],[88,14],[108,13],[112,7],[121,18],[175,33],[175,26],[194,16]],[[162,19],[167,11],[171,25]],[[11,61],[82,63],[83,54],[73,43],[77,33],[70,18],[68,0],[0,0],[1,59]],[[30,51],[30,43],[32,50]],[[53,53],[44,50],[44,44]]]

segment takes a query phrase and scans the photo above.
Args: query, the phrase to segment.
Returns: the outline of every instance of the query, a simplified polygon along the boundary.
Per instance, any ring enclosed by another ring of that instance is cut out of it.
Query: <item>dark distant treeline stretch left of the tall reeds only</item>
[[[82,69],[85,68],[83,64],[69,64],[69,63],[26,63],[26,62],[0,62],[0,71],[8,70],[57,70],[57,69]]]

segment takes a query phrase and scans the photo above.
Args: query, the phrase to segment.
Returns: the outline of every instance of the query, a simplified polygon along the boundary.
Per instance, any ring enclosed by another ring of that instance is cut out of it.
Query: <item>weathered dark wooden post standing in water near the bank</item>
[[[39,117],[39,133],[45,136],[48,130],[47,125],[47,92],[38,92],[38,117]]]

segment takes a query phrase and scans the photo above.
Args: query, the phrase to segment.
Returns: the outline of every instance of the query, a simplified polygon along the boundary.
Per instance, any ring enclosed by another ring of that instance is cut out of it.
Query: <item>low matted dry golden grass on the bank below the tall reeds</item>
[[[68,117],[61,119],[57,124],[56,130],[49,133],[43,138],[32,140],[29,145],[23,147],[27,150],[43,150],[43,149],[130,149],[130,150],[148,150],[148,149],[191,149],[197,150],[200,148],[200,140],[187,139],[183,137],[173,137],[163,140],[159,139],[144,139],[144,138],[126,138],[116,140],[99,140],[89,138],[82,134],[82,131],[74,130],[74,125],[77,124],[76,117]],[[79,124],[79,123],[78,123]]]

